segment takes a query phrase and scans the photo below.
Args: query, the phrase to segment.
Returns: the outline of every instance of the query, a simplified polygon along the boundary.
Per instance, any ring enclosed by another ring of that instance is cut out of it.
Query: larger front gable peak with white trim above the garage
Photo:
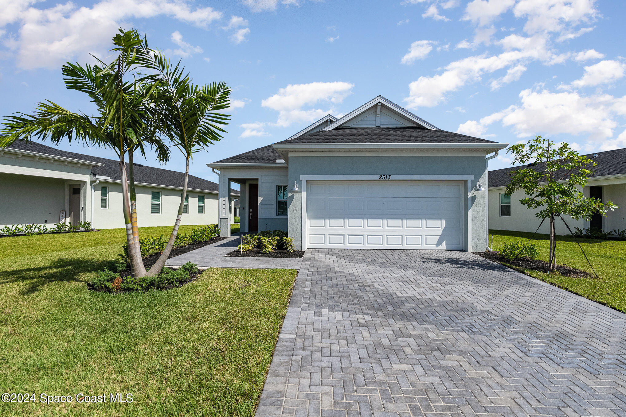
[[[384,108],[384,110],[383,110]],[[372,111],[376,114],[372,116]],[[381,117],[382,114],[382,117]],[[372,119],[373,117],[373,119]],[[381,122],[382,121],[382,122]],[[384,124],[384,126],[383,126]],[[416,116],[407,109],[380,94],[362,106],[352,110],[341,119],[330,124],[323,131],[333,130],[339,127],[399,127],[416,126],[422,129],[438,129],[431,123]]]

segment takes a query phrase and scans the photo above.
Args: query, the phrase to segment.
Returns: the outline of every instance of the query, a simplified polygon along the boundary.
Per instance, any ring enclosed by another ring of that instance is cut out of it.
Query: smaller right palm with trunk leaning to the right
[[[167,246],[148,271],[148,275],[153,275],[162,271],[174,247],[187,194],[189,161],[194,153],[219,141],[222,136],[218,132],[225,132],[218,125],[228,124],[230,116],[217,111],[230,106],[230,88],[226,83],[205,86],[193,84],[189,74],[185,73],[185,68],[180,66],[180,61],[176,65],[170,64],[162,53],[142,56],[140,59],[142,66],[160,76],[161,83],[155,99],[157,126],[185,156],[185,179],[178,215]]]

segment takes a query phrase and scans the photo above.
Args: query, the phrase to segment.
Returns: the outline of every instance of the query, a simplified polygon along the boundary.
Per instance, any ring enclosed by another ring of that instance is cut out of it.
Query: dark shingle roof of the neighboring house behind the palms
[[[52,156],[61,156],[63,158],[82,159],[83,161],[95,162],[105,164],[105,166],[94,166],[91,169],[93,175],[107,176],[111,179],[120,181],[120,163],[114,159],[98,158],[97,156],[90,156],[85,154],[79,154],[74,152],[62,151],[61,149],[46,146],[38,142],[23,142],[16,141],[9,145],[8,148],[18,149],[21,151],[31,151],[42,153]],[[126,163],[128,168],[128,163]],[[179,173],[178,171],[170,171],[169,169],[154,168],[152,166],[145,166],[142,164],[135,164],[133,171],[135,171],[135,181],[137,183],[163,185],[169,187],[183,186],[185,179],[185,173]],[[201,189],[204,191],[218,191],[218,186],[212,181],[198,178],[197,176],[190,175],[187,183],[188,188]],[[239,195],[239,191],[233,189],[231,193]]]

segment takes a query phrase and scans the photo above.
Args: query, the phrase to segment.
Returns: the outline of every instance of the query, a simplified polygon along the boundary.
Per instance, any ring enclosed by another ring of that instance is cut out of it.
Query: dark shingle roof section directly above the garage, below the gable
[[[279,143],[495,143],[440,129],[338,128],[317,131]]]

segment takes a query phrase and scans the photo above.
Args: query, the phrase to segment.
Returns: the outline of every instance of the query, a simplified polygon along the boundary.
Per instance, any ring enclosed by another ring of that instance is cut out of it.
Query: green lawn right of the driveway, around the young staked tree
[[[502,249],[505,242],[520,239],[527,241],[532,236],[532,233],[506,230],[491,230],[490,234],[494,234],[494,247],[491,249],[496,251]],[[539,258],[546,262],[548,261],[548,239],[547,234],[536,234],[534,241],[539,249]],[[533,269],[524,269],[523,272],[626,313],[626,242],[580,239],[580,244],[600,279],[595,279],[595,277],[593,279],[568,278]],[[592,273],[592,269],[572,237],[557,236],[557,263]]]

